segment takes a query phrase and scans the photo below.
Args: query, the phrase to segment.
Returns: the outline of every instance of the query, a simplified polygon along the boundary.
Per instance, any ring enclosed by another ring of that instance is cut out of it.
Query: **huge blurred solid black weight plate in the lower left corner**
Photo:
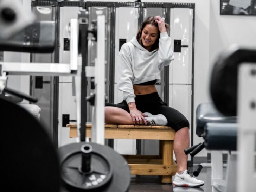
[[[60,191],[57,151],[45,128],[27,110],[0,99],[1,188]]]

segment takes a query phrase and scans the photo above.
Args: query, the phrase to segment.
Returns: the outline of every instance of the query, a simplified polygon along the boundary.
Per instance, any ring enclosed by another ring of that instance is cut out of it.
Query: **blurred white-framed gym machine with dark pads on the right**
[[[185,150],[191,155],[211,151],[212,191],[255,191],[256,50],[236,45],[215,62],[210,79],[213,103],[197,108],[197,135],[204,142]],[[228,150],[226,179],[222,151]],[[201,165],[194,171],[197,176]],[[235,183],[235,184],[234,184]]]

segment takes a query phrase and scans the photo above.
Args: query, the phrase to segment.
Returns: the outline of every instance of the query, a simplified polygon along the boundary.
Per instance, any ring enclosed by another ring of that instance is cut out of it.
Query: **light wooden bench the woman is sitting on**
[[[77,137],[77,125],[68,124],[70,137]],[[91,138],[91,124],[86,125],[86,135]],[[106,139],[154,139],[159,140],[159,155],[123,155],[131,174],[161,175],[162,183],[172,183],[172,175],[177,172],[173,160],[173,140],[175,130],[168,126],[112,125],[105,124]]]

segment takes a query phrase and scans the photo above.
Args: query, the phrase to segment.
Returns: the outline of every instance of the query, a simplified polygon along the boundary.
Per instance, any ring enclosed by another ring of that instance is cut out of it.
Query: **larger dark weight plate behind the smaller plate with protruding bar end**
[[[70,155],[77,153],[81,150],[85,142],[72,143],[59,148],[60,165]],[[130,169],[127,161],[122,155],[115,152],[108,146],[99,145],[97,143],[87,143],[92,146],[92,151],[104,156],[110,166],[113,168],[113,176],[107,185],[94,190],[77,190],[77,191],[102,191],[102,192],[126,192],[130,185]],[[71,192],[71,188],[67,187],[64,182],[62,185],[62,192]],[[72,189],[73,191],[73,189]]]

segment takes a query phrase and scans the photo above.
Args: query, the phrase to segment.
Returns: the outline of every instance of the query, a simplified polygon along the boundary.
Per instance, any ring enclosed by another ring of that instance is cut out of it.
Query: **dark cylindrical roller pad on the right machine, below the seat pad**
[[[208,150],[236,151],[237,123],[207,123],[204,139]]]

